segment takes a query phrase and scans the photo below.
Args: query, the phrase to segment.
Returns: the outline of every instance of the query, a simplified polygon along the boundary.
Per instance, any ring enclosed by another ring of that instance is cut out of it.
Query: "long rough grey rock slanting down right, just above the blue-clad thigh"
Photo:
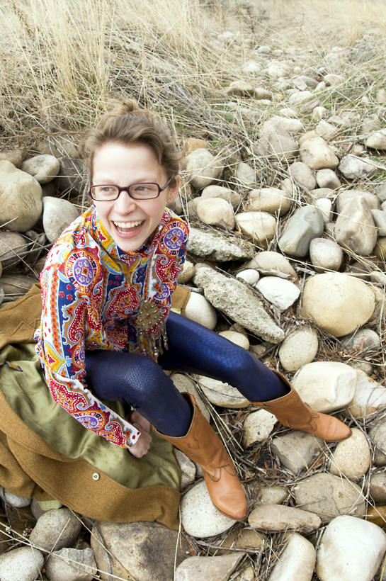
[[[275,325],[253,291],[243,283],[209,268],[196,270],[193,281],[204,289],[205,297],[215,308],[258,337],[275,344],[284,339],[283,331]]]

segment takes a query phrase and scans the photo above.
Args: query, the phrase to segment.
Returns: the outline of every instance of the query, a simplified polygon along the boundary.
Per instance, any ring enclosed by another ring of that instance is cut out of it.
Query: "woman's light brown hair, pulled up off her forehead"
[[[158,115],[140,109],[132,99],[123,101],[111,113],[104,115],[96,128],[89,129],[81,140],[79,152],[86,162],[90,177],[96,150],[112,142],[148,145],[168,179],[178,174],[181,153],[176,149],[169,129]],[[172,180],[171,187],[174,186],[176,181]]]

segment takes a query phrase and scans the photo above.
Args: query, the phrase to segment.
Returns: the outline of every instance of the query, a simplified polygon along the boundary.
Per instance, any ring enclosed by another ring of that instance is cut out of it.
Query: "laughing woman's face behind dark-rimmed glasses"
[[[168,176],[159,165],[151,147],[143,144],[108,143],[96,150],[93,157],[91,186],[114,185],[124,188],[131,184],[152,182],[161,188]],[[177,184],[167,186],[158,198],[134,200],[127,191],[113,201],[94,204],[103,226],[114,242],[125,252],[135,252],[159,225],[166,203],[176,199]]]

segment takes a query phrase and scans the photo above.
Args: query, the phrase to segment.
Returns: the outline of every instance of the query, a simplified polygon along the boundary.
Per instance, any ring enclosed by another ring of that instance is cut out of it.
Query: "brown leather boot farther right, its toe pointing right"
[[[284,426],[293,429],[307,431],[317,438],[328,442],[346,440],[351,436],[351,429],[343,422],[327,414],[314,412],[308,405],[300,399],[300,395],[295,391],[283,373],[271,369],[285,385],[290,388],[290,393],[278,397],[270,402],[254,402],[254,405],[262,407],[263,410],[276,415],[279,422]]]

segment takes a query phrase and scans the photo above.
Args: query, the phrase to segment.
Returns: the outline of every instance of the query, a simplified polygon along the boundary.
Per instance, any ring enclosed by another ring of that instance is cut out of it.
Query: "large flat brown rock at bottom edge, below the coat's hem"
[[[101,541],[108,551],[108,561]],[[98,569],[103,571],[100,573],[103,581],[114,575],[123,579],[134,577],[136,581],[170,581],[174,577],[174,560],[178,563],[186,559],[188,543],[179,538],[178,531],[158,522],[95,521],[91,548]]]

